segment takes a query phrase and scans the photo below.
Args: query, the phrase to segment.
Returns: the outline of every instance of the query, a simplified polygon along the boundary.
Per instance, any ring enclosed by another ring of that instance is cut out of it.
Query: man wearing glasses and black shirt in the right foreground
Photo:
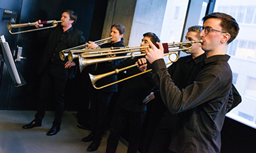
[[[232,16],[215,12],[203,18],[202,49],[207,58],[193,84],[179,90],[171,79],[163,60],[163,46],[150,43],[146,58],[152,63],[156,87],[171,113],[183,113],[184,120],[174,126],[170,152],[220,152],[220,131],[228,112],[232,86],[230,58],[226,48],[239,31]],[[152,151],[151,152],[157,152]]]

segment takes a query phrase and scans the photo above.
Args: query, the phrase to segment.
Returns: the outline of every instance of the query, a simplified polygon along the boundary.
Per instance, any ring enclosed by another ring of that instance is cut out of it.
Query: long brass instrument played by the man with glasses
[[[179,51],[183,51],[185,53],[189,53],[191,52],[192,49],[192,43],[197,43],[197,42],[202,42],[202,40],[200,41],[185,41],[185,42],[173,42],[173,43],[163,43],[164,46],[164,53],[169,53],[169,52],[179,52]],[[101,63],[101,62],[107,62],[107,61],[112,61],[112,60],[117,60],[117,59],[125,59],[125,58],[134,58],[134,57],[139,57],[139,56],[145,56],[146,53],[142,53],[142,54],[134,54],[131,53],[128,56],[118,56],[118,57],[104,57],[104,58],[90,58],[90,57],[95,57],[95,56],[105,56],[105,55],[109,55],[109,54],[118,54],[118,53],[130,53],[130,52],[138,52],[138,51],[144,51],[147,48],[149,48],[149,46],[140,46],[140,47],[134,47],[134,48],[123,48],[123,49],[117,49],[115,50],[116,52],[113,53],[106,53],[106,54],[92,54],[92,55],[87,55],[87,56],[81,56],[79,55],[79,67],[80,67],[80,72],[84,69],[84,67],[88,66],[88,65],[92,65],[94,63]],[[171,49],[169,50],[169,48],[176,48],[176,49]],[[113,50],[104,50],[104,52],[112,52]],[[118,52],[119,51],[119,52]],[[125,52],[123,52],[125,51]],[[83,58],[86,57],[86,58]]]

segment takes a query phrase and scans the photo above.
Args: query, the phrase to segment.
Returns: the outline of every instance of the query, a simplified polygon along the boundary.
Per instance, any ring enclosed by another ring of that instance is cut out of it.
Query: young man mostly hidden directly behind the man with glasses
[[[198,41],[201,40],[200,37],[201,26],[195,25],[188,28],[187,35],[185,36],[185,41]],[[201,44],[192,44],[192,50],[189,52],[189,56],[180,57],[176,62],[172,63],[168,67],[168,73],[171,75],[172,80],[180,90],[192,84],[196,79],[196,76],[199,74],[201,62],[203,62],[206,57],[204,50],[201,48]],[[147,104],[150,100],[155,99],[155,103],[163,103],[160,92],[155,91],[151,92],[150,95],[143,100],[143,103]],[[157,104],[156,104],[157,105]],[[159,117],[162,114],[159,114]],[[151,150],[155,152],[168,152],[168,147],[170,145],[171,137],[175,133],[172,133],[172,130],[175,127],[175,121],[183,120],[182,113],[172,114],[167,111],[162,119],[156,121],[155,124],[158,124],[158,128],[155,131],[153,141],[151,143]]]

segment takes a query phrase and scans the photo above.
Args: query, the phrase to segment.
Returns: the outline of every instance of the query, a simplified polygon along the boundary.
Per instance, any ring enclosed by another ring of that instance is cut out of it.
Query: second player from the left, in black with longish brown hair
[[[124,40],[123,35],[125,34],[125,26],[122,24],[114,24],[112,25],[111,33],[112,39],[108,44],[101,45],[101,48],[110,48],[110,47],[123,47]],[[88,48],[99,48],[94,42],[89,41]],[[113,54],[109,57],[114,56],[125,56],[126,53],[122,54]],[[96,74],[104,74],[114,70],[114,66],[119,62],[123,61],[123,59],[117,59],[108,62],[97,63],[94,67],[93,75]],[[116,82],[117,76],[112,75],[106,78],[100,79],[96,82],[97,87],[104,86],[106,84]],[[101,137],[106,130],[106,126],[108,125],[108,108],[110,99],[113,95],[113,92],[117,92],[117,84],[112,86],[102,88],[100,90],[96,90],[93,92],[92,99],[90,102],[90,129],[92,133],[90,133],[87,137],[82,138],[83,142],[92,143],[87,148],[88,151],[96,151],[101,143]]]

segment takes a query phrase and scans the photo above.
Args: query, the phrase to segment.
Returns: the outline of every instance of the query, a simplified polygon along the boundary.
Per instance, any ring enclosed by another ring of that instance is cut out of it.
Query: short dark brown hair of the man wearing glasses
[[[228,32],[230,34],[230,39],[228,40],[228,44],[232,42],[234,39],[236,39],[240,29],[238,23],[236,22],[236,19],[222,12],[214,12],[212,14],[208,14],[207,16],[204,16],[202,20],[203,22],[205,22],[210,18],[221,19],[220,26],[222,28],[222,31]]]

